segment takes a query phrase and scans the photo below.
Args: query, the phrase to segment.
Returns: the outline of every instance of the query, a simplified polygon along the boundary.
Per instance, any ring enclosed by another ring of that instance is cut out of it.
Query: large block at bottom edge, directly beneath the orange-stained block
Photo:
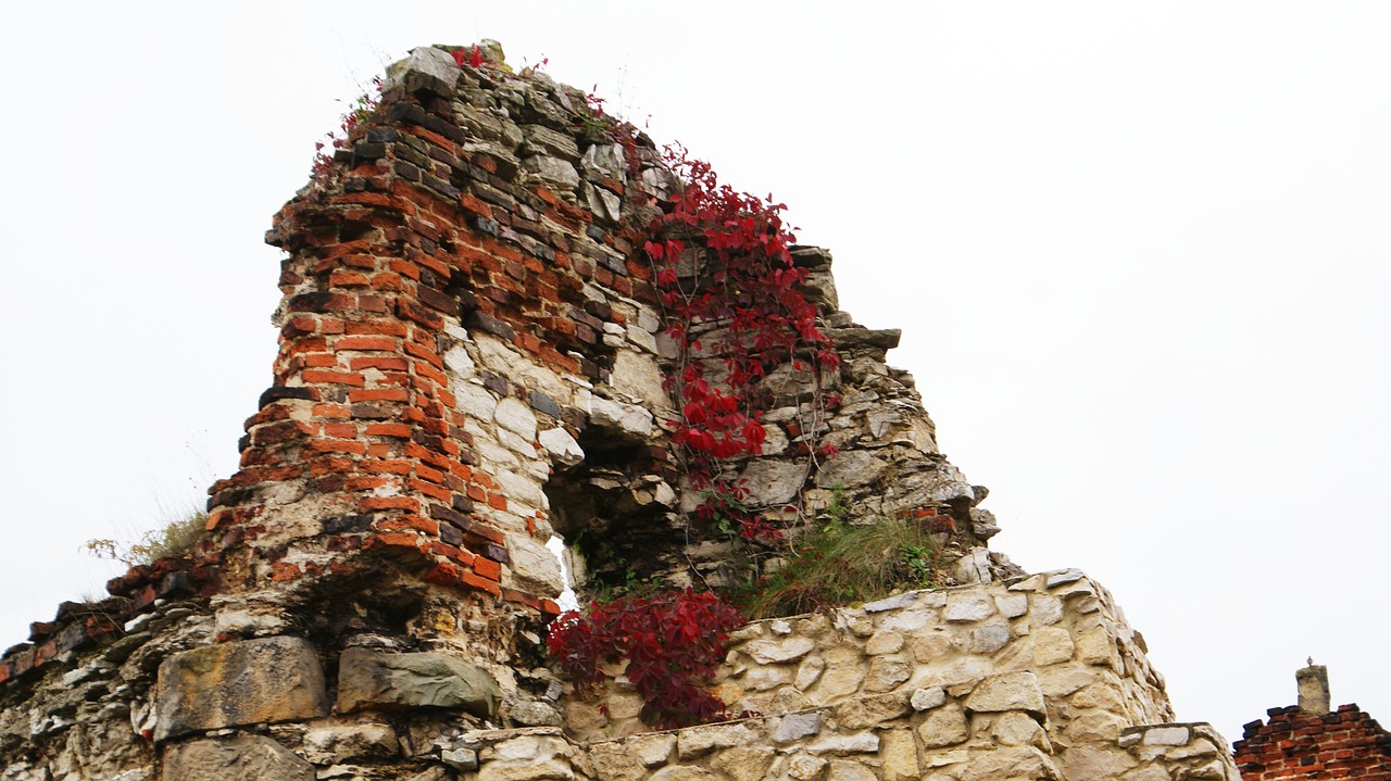
[[[314,781],[314,766],[270,738],[189,741],[164,750],[170,781]]]

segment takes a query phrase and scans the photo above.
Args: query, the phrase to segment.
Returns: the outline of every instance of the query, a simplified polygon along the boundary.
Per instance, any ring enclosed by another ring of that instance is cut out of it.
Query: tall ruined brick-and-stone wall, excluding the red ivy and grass
[[[771,372],[768,441],[733,466],[750,503],[787,525],[832,496],[850,524],[926,524],[946,579],[981,585],[755,624],[719,691],[759,717],[629,735],[651,743],[637,775],[627,743],[591,745],[638,725],[620,688],[601,720],[547,668],[545,543],[570,541],[591,582],[718,581],[730,553],[682,511],[673,352],[636,253],[677,182],[606,122],[544,75],[440,49],[391,68],[267,236],[287,252],[274,382],[206,539],[4,653],[0,778],[1150,781],[1199,756],[1168,755],[1200,730],[1146,734],[1159,759],[1121,745],[1170,718],[1142,641],[1079,574],[1014,578],[985,548],[985,489],[885,364],[897,332],[837,310],[814,247],[793,258],[842,404],[818,421],[815,378]],[[805,456],[817,434],[835,459]]]

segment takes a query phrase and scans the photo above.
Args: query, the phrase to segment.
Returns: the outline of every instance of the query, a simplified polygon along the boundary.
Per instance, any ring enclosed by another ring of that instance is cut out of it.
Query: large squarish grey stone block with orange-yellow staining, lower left
[[[319,655],[275,636],[185,650],[160,664],[154,741],[199,730],[328,714]]]

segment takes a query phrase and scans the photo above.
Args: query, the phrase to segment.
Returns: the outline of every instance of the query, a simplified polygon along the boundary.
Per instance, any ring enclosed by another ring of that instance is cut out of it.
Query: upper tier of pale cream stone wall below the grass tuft
[[[718,677],[718,693],[733,713],[956,691],[1027,670],[1047,698],[1060,745],[1114,741],[1125,727],[1174,718],[1143,638],[1111,595],[1077,570],[914,591],[757,621],[733,636]],[[584,739],[641,732],[641,705],[619,677],[601,699],[570,698],[566,728]]]

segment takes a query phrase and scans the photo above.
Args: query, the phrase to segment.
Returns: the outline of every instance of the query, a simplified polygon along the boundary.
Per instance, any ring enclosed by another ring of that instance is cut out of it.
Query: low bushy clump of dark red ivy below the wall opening
[[[579,684],[604,680],[601,666],[627,660],[627,680],[643,696],[640,717],[661,728],[727,717],[704,684],[725,659],[729,632],[744,616],[711,592],[623,596],[593,603],[587,616],[566,613],[551,624],[547,646]]]

